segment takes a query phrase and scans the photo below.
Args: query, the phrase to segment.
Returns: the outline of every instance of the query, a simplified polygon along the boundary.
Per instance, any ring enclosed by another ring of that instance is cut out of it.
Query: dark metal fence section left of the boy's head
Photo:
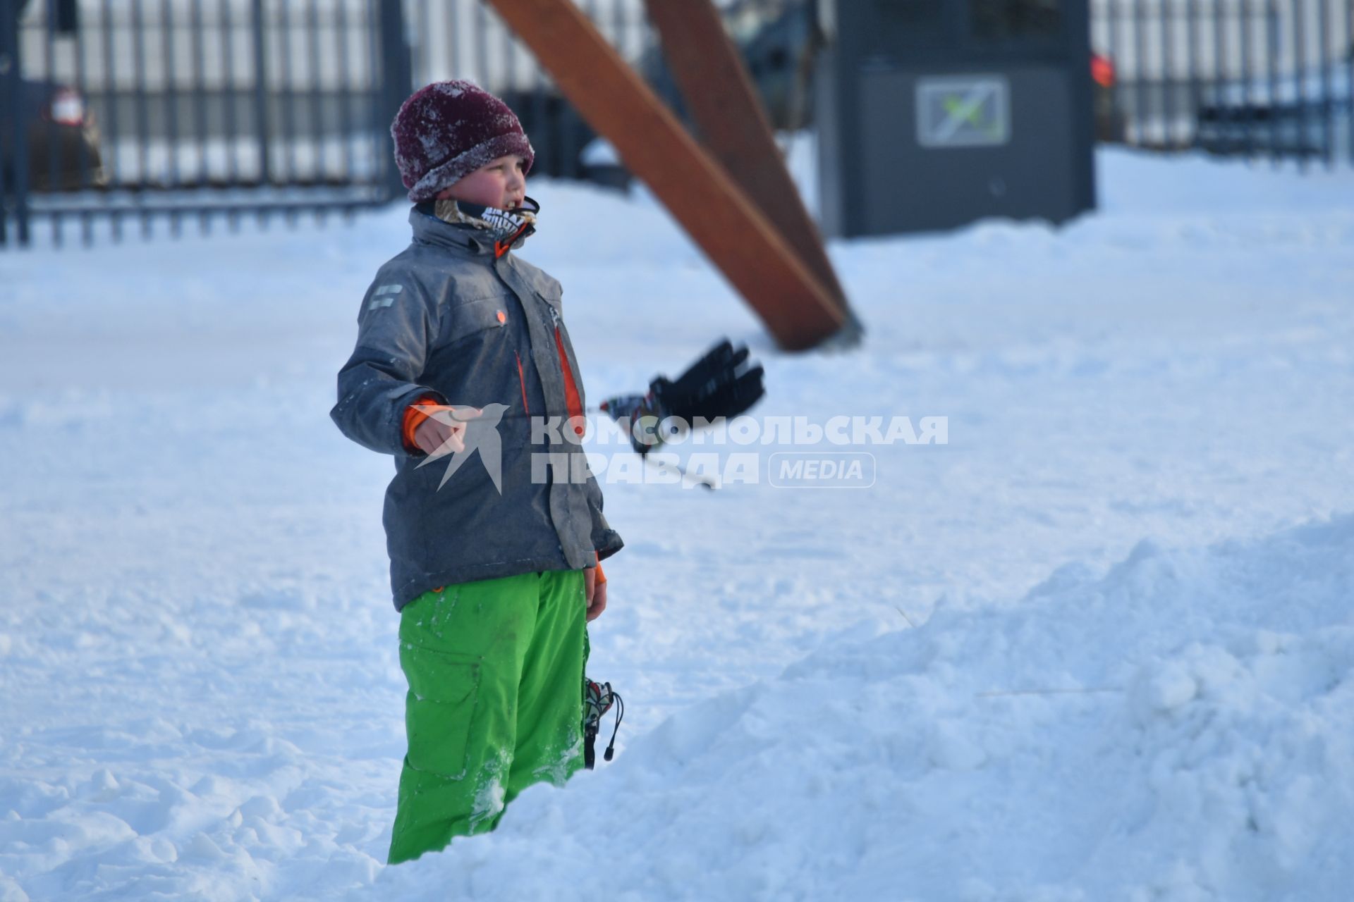
[[[398,0],[0,0],[0,243],[389,200],[403,31]]]

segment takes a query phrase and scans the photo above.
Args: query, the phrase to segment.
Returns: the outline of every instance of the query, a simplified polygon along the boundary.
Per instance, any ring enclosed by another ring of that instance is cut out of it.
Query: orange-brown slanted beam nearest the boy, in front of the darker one
[[[492,0],[584,119],[605,135],[787,350],[846,322],[757,204],[570,0]]]

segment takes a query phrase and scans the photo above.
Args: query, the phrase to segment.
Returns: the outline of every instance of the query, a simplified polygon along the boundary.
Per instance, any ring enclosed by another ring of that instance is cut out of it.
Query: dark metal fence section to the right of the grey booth
[[[1094,0],[1102,137],[1354,162],[1351,0]]]

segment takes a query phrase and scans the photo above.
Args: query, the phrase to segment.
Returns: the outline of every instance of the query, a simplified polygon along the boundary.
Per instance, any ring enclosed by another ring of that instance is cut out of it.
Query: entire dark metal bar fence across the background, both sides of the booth
[[[642,0],[574,1],[680,108]],[[1056,1],[1010,0],[1011,15]],[[1354,0],[1091,1],[1102,141],[1354,162]],[[726,9],[768,107],[804,93],[816,5]],[[34,220],[88,242],[96,222],[118,238],[129,220],[177,234],[385,203],[402,191],[394,111],[451,77],[508,100],[535,172],[608,169],[483,0],[0,0],[0,245],[27,243]],[[789,105],[788,127],[808,122]]]

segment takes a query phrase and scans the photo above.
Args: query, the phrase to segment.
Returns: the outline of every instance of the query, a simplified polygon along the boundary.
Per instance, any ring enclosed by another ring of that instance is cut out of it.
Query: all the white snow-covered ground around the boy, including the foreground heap
[[[1099,164],[1062,230],[834,243],[849,354],[532,185],[593,399],[728,334],[760,415],[948,444],[607,487],[615,763],[395,868],[390,464],[328,410],[403,207],[0,256],[0,901],[1349,898],[1354,173]]]

